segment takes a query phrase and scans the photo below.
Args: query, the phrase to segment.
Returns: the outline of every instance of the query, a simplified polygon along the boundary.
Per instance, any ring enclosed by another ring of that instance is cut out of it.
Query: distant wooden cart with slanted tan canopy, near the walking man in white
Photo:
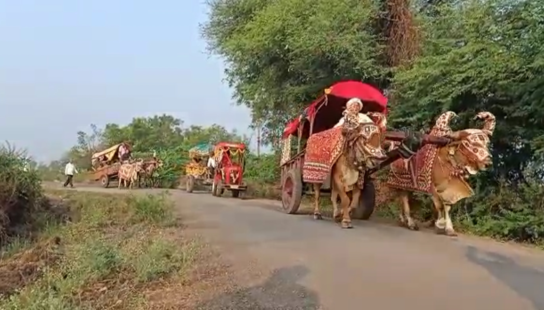
[[[91,156],[92,179],[100,181],[104,188],[109,186],[110,181],[116,181],[121,163],[130,158],[132,151],[127,142],[116,144],[104,151],[97,152]]]

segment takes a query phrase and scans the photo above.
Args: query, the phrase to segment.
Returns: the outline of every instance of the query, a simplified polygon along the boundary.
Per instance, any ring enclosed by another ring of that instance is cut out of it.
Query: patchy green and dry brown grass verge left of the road
[[[48,195],[67,220],[48,218],[33,239],[2,248],[0,309],[147,309],[147,290],[186,281],[200,246],[184,238],[166,194]]]

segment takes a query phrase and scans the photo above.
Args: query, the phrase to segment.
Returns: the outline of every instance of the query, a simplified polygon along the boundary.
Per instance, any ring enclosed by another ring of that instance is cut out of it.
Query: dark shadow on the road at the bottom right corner
[[[536,309],[544,309],[544,272],[522,266],[510,257],[478,250],[474,246],[467,246],[466,257],[468,261],[485,268],[497,280],[531,301]]]

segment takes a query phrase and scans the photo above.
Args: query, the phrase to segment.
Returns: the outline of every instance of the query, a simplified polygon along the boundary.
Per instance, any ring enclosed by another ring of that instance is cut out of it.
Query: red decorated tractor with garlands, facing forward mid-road
[[[247,189],[244,183],[246,146],[243,143],[219,142],[215,145],[216,162],[212,195],[221,196],[225,190],[232,192],[232,197],[240,197]]]

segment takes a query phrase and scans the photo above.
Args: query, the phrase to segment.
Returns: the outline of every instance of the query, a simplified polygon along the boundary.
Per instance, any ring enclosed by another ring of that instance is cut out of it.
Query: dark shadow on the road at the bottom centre
[[[196,306],[199,310],[317,310],[319,297],[296,283],[308,274],[302,265],[276,269],[261,285],[237,289]]]

